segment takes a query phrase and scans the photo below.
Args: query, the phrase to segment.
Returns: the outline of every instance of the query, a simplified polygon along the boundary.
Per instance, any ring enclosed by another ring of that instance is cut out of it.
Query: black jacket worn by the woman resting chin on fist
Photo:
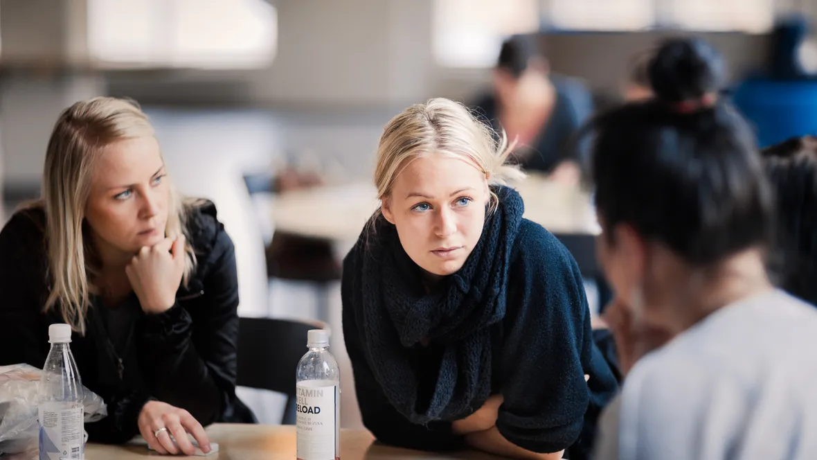
[[[121,368],[96,308],[88,312],[85,336],[72,337],[83,385],[108,404],[108,417],[86,425],[89,440],[131,439],[148,400],[186,409],[204,426],[254,421],[235,396],[239,295],[233,243],[212,203],[189,212],[189,241],[198,259],[194,275],[169,310],[145,315],[137,309]],[[49,291],[44,225],[45,213],[28,209],[16,212],[0,232],[0,365],[42,368],[48,326],[65,322],[56,309],[43,313]]]

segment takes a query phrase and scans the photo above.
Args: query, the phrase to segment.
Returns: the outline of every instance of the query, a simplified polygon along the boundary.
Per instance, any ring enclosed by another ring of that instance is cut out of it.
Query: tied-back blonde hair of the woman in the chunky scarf
[[[412,105],[383,128],[374,170],[377,198],[381,202],[388,199],[400,172],[426,154],[467,159],[485,175],[489,185],[521,179],[525,174],[520,168],[506,163],[511,150],[513,145],[508,145],[504,132],[499,138],[494,136],[493,129],[465,105],[442,97]],[[497,195],[491,191],[489,211],[497,203]]]

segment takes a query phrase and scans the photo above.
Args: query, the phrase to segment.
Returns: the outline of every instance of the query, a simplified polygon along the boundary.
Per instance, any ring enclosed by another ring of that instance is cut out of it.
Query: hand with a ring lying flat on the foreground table
[[[160,401],[148,401],[139,413],[139,432],[156,452],[176,455],[180,449],[185,455],[195,455],[196,449],[187,437],[193,435],[203,453],[210,452],[210,440],[204,428],[185,409]],[[176,444],[170,436],[176,439]]]

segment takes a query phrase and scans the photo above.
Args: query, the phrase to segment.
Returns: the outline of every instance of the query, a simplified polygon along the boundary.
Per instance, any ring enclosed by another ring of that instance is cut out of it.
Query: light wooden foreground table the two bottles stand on
[[[291,425],[216,424],[208,427],[207,431],[210,441],[219,444],[219,452],[206,457],[182,458],[217,458],[218,460],[295,459],[295,427]],[[161,456],[148,450],[145,440],[141,440],[141,438],[124,446],[87,444],[85,449],[86,460],[136,460],[149,457],[157,458]],[[413,458],[488,460],[497,457],[473,451],[440,454],[398,449],[373,443],[372,435],[365,430],[344,430],[341,432],[341,460],[408,460]]]

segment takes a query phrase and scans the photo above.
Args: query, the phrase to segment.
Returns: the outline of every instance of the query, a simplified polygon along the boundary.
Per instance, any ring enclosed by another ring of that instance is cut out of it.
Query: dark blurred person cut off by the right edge
[[[817,305],[817,137],[795,137],[761,154],[776,203],[771,274],[780,288]]]

